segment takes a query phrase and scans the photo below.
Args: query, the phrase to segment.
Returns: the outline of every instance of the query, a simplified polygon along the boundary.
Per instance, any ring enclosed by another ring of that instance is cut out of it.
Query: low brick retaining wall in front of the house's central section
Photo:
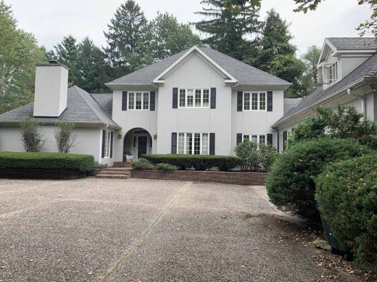
[[[237,185],[265,185],[267,172],[200,170],[131,170],[132,178],[216,182]]]

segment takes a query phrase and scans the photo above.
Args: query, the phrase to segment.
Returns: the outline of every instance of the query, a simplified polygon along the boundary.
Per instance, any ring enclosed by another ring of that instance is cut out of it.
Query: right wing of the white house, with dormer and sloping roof
[[[272,125],[278,148],[319,105],[354,105],[377,121],[377,41],[375,38],[326,38],[318,61],[319,87]]]

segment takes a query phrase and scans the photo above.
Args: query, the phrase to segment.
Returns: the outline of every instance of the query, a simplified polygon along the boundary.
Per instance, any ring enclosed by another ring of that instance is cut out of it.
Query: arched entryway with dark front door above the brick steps
[[[132,155],[136,160],[141,155],[152,153],[152,138],[148,131],[143,128],[134,128],[125,134],[123,141],[123,157]]]

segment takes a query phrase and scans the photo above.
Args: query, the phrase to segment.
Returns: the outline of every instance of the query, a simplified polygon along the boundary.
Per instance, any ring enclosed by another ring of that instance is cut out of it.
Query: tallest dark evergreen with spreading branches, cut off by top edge
[[[202,0],[202,12],[196,12],[204,16],[204,20],[195,23],[195,27],[208,34],[203,40],[212,49],[230,55],[237,60],[244,60],[245,53],[251,57],[253,47],[252,40],[246,40],[249,36],[255,38],[260,29],[258,21],[259,8],[244,3],[245,1],[233,0]]]

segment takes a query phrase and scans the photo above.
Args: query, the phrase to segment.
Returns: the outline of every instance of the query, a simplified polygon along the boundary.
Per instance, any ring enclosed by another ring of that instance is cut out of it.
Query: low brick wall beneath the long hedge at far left
[[[0,178],[11,179],[78,179],[85,172],[68,169],[0,168]]]

